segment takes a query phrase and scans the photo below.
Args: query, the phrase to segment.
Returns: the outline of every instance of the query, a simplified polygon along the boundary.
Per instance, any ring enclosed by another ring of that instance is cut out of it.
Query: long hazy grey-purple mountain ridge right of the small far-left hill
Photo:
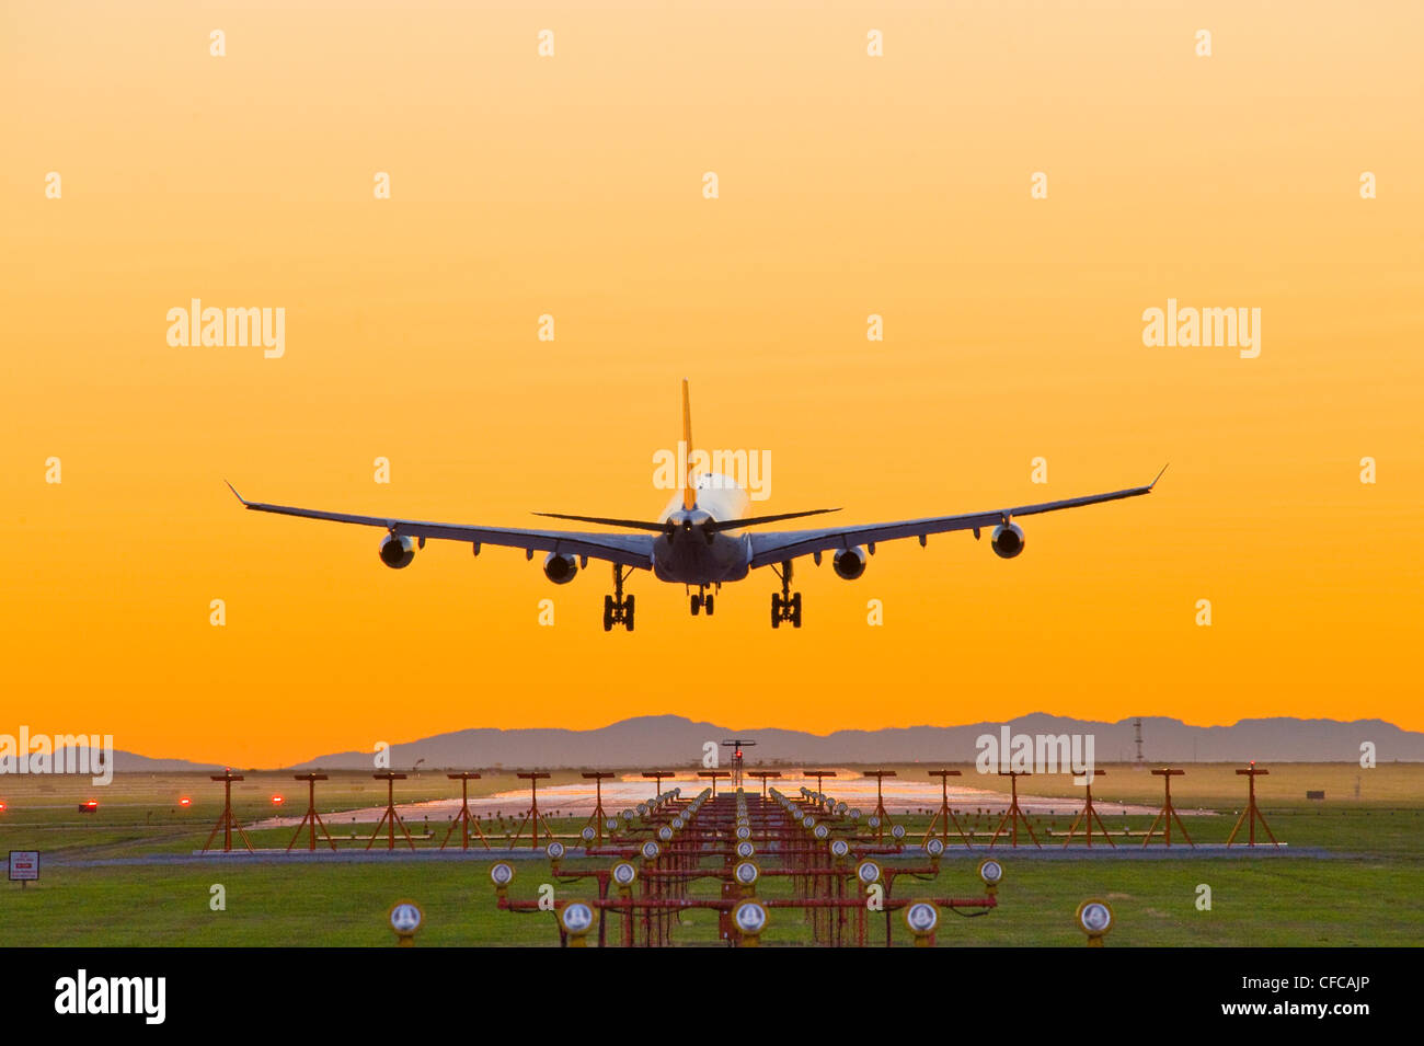
[[[434,767],[628,767],[662,763],[686,767],[702,760],[702,746],[729,737],[755,737],[750,763],[968,763],[975,739],[998,736],[1001,723],[911,726],[884,730],[837,730],[817,736],[775,727],[749,729],[696,723],[682,716],[641,716],[597,730],[474,729],[393,744],[390,764]],[[1134,720],[1098,723],[1034,713],[1008,722],[1014,733],[1094,734],[1099,763],[1129,761],[1135,753]],[[1151,763],[1353,763],[1371,741],[1376,759],[1424,761],[1424,733],[1400,730],[1377,719],[1243,719],[1235,726],[1188,726],[1178,719],[1142,719],[1143,754]],[[723,753],[725,760],[725,753]],[[365,770],[372,753],[340,751],[292,768]]]

